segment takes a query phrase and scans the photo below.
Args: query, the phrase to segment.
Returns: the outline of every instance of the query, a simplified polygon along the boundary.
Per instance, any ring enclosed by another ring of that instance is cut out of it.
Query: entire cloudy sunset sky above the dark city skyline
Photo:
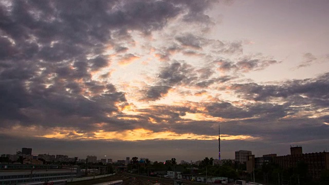
[[[329,150],[328,1],[1,1],[0,154]]]

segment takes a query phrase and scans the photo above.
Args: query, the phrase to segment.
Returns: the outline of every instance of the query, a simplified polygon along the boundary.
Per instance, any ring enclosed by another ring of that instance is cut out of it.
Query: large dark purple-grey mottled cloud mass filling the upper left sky
[[[0,113],[0,124],[19,121],[85,130],[90,124],[108,122],[107,115],[119,112],[117,104],[126,104],[126,99],[112,84],[92,80],[92,71],[110,64],[102,54],[107,44],[125,53],[128,48],[115,40],[130,38],[127,30],[150,34],[178,14],[198,17],[209,6],[196,9],[189,3],[13,1],[10,7],[1,5],[0,101],[7,108]],[[163,87],[151,88],[147,97],[166,94],[170,87]]]

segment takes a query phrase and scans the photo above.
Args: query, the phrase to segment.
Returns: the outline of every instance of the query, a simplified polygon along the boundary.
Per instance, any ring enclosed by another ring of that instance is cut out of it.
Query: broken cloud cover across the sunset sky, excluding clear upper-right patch
[[[33,150],[67,149],[68,155],[74,156],[71,146],[95,151],[89,140],[104,146],[101,140],[115,140],[111,134],[124,133],[125,140],[133,140],[128,136],[147,136],[143,138],[147,140],[106,141],[108,148],[117,147],[126,154],[134,149],[140,155],[168,156],[172,151],[159,153],[155,146],[173,149],[173,144],[186,145],[181,153],[184,157],[197,146],[205,149],[196,152],[198,159],[210,150],[216,153],[213,136],[218,123],[223,137],[246,140],[242,144],[227,141],[231,151],[236,147],[266,148],[268,143],[273,148],[277,138],[281,143],[317,143],[317,138],[327,138],[328,73],[281,83],[242,83],[237,79],[241,73],[280,61],[244,54],[241,41],[208,39],[205,31],[214,23],[206,13],[217,1],[0,4],[0,104],[5,107],[0,112],[0,140],[6,150],[24,141]],[[172,31],[178,24],[197,30]],[[145,38],[153,40],[145,44]],[[146,82],[134,78],[131,83],[138,81],[137,85],[122,84],[118,73],[127,74],[133,66],[118,71],[112,64],[131,64],[147,54],[165,62],[159,68],[142,66]],[[307,65],[317,58],[312,53],[304,55]],[[176,101],[171,94],[184,96],[174,97],[179,98]],[[166,104],[167,100],[170,103]],[[26,138],[22,140],[20,133]],[[163,141],[173,137],[179,139]],[[148,150],[143,153],[136,143]]]

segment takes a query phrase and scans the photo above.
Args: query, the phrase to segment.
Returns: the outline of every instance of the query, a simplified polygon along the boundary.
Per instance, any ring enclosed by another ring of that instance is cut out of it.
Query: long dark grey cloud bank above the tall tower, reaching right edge
[[[328,117],[323,116],[328,114],[328,77],[325,73],[314,79],[286,81],[282,85],[249,83],[231,86],[229,89],[235,90],[237,96],[240,95],[247,100],[243,103],[220,100],[212,103],[190,102],[182,109],[178,106],[154,106],[140,111],[145,117],[152,117],[157,121],[157,124],[150,125],[153,131],[169,130],[180,134],[212,135],[209,134],[209,127],[216,126],[218,122],[182,118],[187,113],[198,113],[224,118],[225,120],[221,121],[225,131],[223,134],[248,135],[261,138],[265,143],[273,140],[289,142],[287,144],[312,143],[325,139],[329,129],[324,124],[328,122]],[[277,98],[280,98],[279,102],[271,103],[272,99],[278,100]],[[252,101],[249,102],[250,100]],[[294,133],[289,129],[294,130]]]

